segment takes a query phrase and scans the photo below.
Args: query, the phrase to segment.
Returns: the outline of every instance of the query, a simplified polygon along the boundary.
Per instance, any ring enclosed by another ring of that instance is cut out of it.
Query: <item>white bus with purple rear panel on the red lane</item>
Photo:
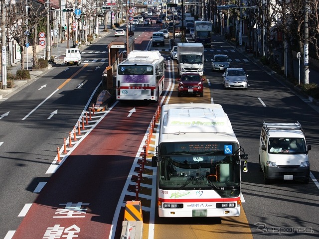
[[[117,100],[158,101],[164,89],[164,58],[159,51],[131,51],[117,67]]]

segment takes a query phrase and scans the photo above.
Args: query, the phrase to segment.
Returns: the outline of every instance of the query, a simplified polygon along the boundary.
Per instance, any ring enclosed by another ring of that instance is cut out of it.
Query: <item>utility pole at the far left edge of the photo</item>
[[[5,0],[1,1],[1,82],[2,90],[6,90],[6,37],[5,37]]]

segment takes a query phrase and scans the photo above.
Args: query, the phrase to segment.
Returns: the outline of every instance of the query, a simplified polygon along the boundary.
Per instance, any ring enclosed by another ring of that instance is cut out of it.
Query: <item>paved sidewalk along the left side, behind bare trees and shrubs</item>
[[[99,26],[99,36],[93,40],[92,44],[94,44],[96,41],[98,41],[99,39],[101,39],[101,37],[104,37],[108,34],[110,34],[111,32],[113,32],[115,29],[111,30],[110,26],[107,26],[109,29],[109,32],[104,32],[104,25],[100,25]],[[25,85],[28,82],[31,82],[33,80],[36,80],[37,77],[43,75],[43,73],[49,71],[51,69],[51,67],[54,67],[55,64],[61,64],[63,63],[63,58],[65,56],[65,50],[66,50],[66,44],[67,42],[62,42],[57,44],[54,44],[51,46],[51,56],[54,56],[54,64],[49,64],[47,68],[45,69],[37,69],[37,70],[32,70],[32,53],[29,53],[28,56],[26,57],[26,55],[24,55],[24,69],[26,69],[26,66],[28,65],[28,70],[30,72],[30,78],[31,79],[27,79],[27,80],[15,80],[14,81],[14,87],[13,88],[6,88],[6,90],[2,90],[0,89],[0,100],[2,98],[7,98],[9,96],[9,94],[11,94],[12,92],[16,91],[17,89],[21,88],[23,85]],[[89,47],[91,44],[89,45],[85,45],[85,42],[82,42],[82,44],[79,46],[79,48],[81,49],[81,51],[83,51],[84,49],[86,49],[87,47]],[[73,42],[72,42],[72,38],[69,41],[69,47],[73,46]],[[44,52],[45,48],[43,48],[43,51],[37,52],[37,57],[40,58],[44,58]],[[59,56],[59,57],[58,57]],[[26,63],[26,58],[28,58],[28,63]],[[13,75],[16,75],[17,70],[21,69],[21,63],[20,61],[12,64],[12,66],[7,67],[7,73],[11,73]]]

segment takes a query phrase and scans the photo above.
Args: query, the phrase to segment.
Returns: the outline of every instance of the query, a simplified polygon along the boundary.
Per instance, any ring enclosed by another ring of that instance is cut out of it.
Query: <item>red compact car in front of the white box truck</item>
[[[182,94],[192,94],[204,96],[203,81],[205,79],[201,78],[198,73],[184,73],[181,75],[180,79],[176,78],[178,81],[178,97]]]

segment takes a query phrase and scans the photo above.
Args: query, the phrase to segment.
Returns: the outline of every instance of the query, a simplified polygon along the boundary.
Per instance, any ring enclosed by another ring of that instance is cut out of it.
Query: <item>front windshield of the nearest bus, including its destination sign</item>
[[[159,188],[215,190],[221,197],[238,197],[238,147],[236,142],[161,143]]]

